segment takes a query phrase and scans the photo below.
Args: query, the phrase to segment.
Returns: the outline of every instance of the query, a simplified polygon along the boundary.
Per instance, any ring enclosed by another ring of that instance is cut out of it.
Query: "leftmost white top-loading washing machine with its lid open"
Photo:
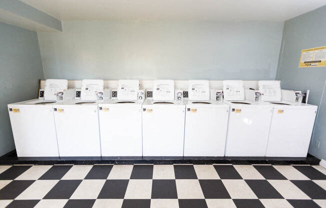
[[[66,79],[46,79],[38,99],[8,104],[13,139],[18,157],[59,156],[52,104],[71,99]],[[59,97],[59,96],[58,96]]]

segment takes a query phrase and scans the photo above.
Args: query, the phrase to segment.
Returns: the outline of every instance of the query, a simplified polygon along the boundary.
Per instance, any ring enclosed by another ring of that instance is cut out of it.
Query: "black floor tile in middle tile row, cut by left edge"
[[[0,190],[0,199],[14,199],[35,180],[13,180]]]

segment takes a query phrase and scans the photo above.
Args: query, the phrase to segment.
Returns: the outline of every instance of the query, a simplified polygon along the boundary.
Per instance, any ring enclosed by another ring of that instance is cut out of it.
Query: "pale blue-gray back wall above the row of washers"
[[[283,22],[62,21],[38,32],[45,78],[274,79]]]

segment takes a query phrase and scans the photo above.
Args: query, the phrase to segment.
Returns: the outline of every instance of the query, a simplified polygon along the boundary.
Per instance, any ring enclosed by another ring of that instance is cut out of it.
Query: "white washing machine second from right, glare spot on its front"
[[[265,156],[272,105],[244,99],[242,80],[223,81],[229,105],[225,156]]]

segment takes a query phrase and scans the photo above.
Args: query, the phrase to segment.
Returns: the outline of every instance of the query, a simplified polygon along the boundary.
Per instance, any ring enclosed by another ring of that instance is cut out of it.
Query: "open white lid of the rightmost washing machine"
[[[258,81],[259,92],[262,101],[280,101],[281,90],[279,80],[260,80]]]

